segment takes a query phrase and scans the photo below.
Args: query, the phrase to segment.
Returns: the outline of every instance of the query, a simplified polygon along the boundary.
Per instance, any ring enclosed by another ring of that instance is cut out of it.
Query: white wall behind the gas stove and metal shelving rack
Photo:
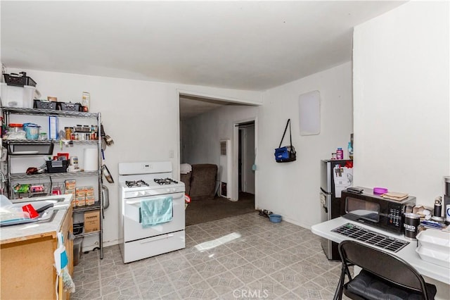
[[[21,70],[8,68],[6,71],[18,73]],[[90,92],[91,111],[101,112],[105,131],[114,139],[113,146],[105,151],[104,161],[115,180],[115,184],[104,180],[110,194],[110,207],[105,210],[103,223],[106,246],[117,244],[119,162],[172,161],[174,177],[179,179],[179,90],[250,103],[262,101],[260,92],[25,71],[37,82],[41,99],[57,96],[58,101],[77,102],[81,101],[82,92]],[[170,157],[171,152],[174,157]]]

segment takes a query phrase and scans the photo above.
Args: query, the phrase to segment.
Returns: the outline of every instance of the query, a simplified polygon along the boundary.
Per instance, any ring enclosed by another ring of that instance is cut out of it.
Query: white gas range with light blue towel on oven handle
[[[119,163],[119,185],[124,263],[185,247],[185,187],[172,180],[170,161]]]

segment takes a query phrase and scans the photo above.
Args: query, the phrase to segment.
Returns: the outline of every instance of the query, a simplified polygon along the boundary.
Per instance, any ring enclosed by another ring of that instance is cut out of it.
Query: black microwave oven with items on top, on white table
[[[403,231],[404,213],[413,211],[416,197],[408,196],[397,201],[374,194],[373,189],[360,189],[361,193],[342,191],[342,217],[400,234]]]

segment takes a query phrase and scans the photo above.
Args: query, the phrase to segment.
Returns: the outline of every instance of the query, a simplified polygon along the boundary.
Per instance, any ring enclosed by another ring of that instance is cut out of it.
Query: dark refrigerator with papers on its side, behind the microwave
[[[338,218],[341,207],[341,191],[353,185],[353,161],[321,161],[321,222]],[[323,252],[329,260],[340,261],[338,243],[321,238]]]

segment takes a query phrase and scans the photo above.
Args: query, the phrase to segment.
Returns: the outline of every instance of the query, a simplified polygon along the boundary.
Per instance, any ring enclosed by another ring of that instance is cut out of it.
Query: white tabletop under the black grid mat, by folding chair
[[[434,280],[437,280],[439,282],[444,282],[446,285],[450,285],[450,269],[445,268],[441,265],[435,265],[434,263],[429,263],[428,261],[423,261],[422,258],[417,254],[416,247],[417,247],[417,241],[415,240],[409,240],[404,237],[404,235],[395,235],[392,232],[387,232],[385,230],[379,230],[377,227],[371,227],[368,225],[364,225],[361,223],[354,222],[352,220],[348,220],[346,218],[335,218],[332,220],[328,220],[323,223],[319,223],[316,225],[311,226],[311,232],[313,232],[315,235],[319,235],[321,237],[324,237],[326,239],[330,239],[333,242],[340,243],[344,241],[345,239],[352,239],[351,237],[346,237],[345,235],[340,235],[336,232],[331,232],[331,230],[334,230],[337,227],[340,227],[342,225],[345,225],[347,223],[352,223],[354,225],[364,227],[367,230],[371,230],[373,232],[378,232],[381,235],[387,235],[390,237],[394,237],[396,239],[402,239],[404,241],[408,241],[409,244],[405,246],[403,249],[398,251],[397,253],[392,252],[392,254],[399,256],[399,258],[404,259],[404,261],[407,261],[409,264],[411,264],[418,272],[422,275],[425,275],[427,277],[430,277]],[[356,239],[354,239],[356,240]],[[364,242],[363,242],[364,243]],[[367,244],[367,243],[364,243]],[[368,244],[369,246],[373,246]],[[377,246],[374,246],[375,248],[379,248]]]

